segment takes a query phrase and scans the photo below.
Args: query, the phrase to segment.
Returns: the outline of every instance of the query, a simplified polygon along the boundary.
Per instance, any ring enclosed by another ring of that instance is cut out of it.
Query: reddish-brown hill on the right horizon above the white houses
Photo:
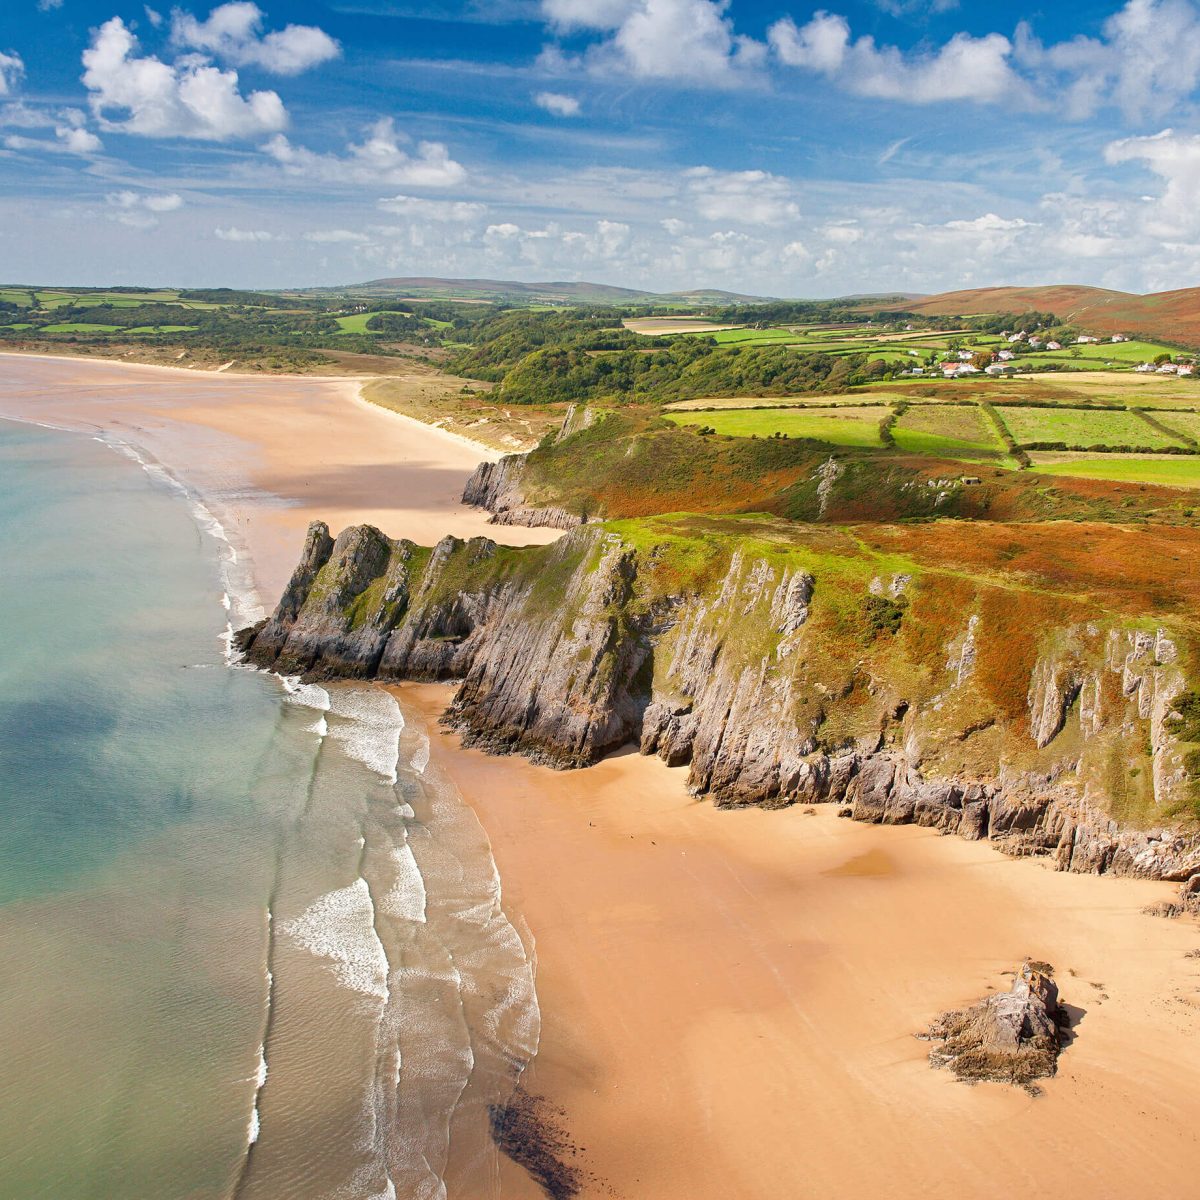
[[[1038,288],[976,288],[943,292],[910,302],[912,312],[967,317],[997,312],[1052,312],[1094,334],[1147,334],[1200,344],[1200,288],[1136,295],[1084,284]]]

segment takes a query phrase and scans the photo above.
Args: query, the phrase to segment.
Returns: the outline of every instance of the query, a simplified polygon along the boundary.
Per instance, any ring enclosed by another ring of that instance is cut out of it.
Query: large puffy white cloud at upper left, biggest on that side
[[[167,64],[137,52],[137,38],[120,17],[101,25],[84,52],[83,83],[103,128],[224,142],[287,126],[278,95],[242,96],[236,71],[221,71],[196,55]]]

